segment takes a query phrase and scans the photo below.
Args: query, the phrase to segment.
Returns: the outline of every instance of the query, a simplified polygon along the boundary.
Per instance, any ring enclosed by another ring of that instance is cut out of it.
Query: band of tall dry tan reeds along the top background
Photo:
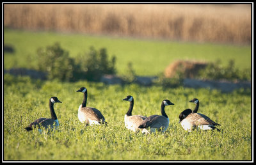
[[[4,27],[251,43],[251,4],[4,4]]]

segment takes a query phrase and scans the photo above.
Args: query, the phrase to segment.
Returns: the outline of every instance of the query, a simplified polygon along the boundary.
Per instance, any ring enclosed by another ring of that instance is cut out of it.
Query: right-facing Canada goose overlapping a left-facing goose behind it
[[[164,132],[169,126],[169,118],[164,111],[165,106],[174,105],[170,100],[163,100],[161,104],[161,113],[162,115],[152,115],[148,116],[143,123],[139,126],[140,129],[143,129],[143,133],[149,134],[150,132],[156,132],[157,130],[162,130]],[[148,128],[149,131],[147,130]]]

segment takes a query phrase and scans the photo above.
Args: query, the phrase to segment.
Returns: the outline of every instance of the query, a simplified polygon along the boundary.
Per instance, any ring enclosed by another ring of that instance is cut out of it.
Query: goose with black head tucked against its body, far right
[[[213,122],[209,117],[205,116],[201,113],[193,113],[191,109],[185,109],[180,113],[180,125],[184,130],[191,130],[195,128],[199,128],[202,130],[214,130],[217,129],[215,125],[220,125],[218,123]],[[220,131],[220,129],[217,129]]]

